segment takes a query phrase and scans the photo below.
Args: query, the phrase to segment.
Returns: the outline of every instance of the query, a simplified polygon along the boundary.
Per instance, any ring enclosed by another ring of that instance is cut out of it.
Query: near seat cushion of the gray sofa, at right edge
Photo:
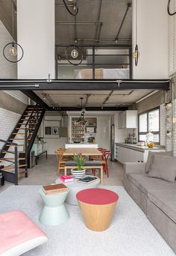
[[[151,190],[148,198],[176,223],[176,186]]]

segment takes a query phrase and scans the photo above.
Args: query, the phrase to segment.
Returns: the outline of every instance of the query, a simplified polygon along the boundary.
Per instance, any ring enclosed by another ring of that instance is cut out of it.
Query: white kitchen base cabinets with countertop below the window
[[[164,147],[141,147],[136,144],[116,143],[116,160],[125,162],[147,162],[148,151],[165,151]]]

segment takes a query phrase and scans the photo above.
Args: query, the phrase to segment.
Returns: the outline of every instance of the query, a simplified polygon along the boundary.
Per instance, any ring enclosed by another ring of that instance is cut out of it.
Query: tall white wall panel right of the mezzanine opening
[[[169,73],[169,15],[167,0],[137,1],[139,61],[133,79],[167,79]],[[136,0],[133,0],[133,51],[136,45]]]

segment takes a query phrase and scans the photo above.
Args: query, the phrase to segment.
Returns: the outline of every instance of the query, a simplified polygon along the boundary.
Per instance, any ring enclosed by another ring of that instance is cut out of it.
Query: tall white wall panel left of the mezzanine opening
[[[19,79],[54,79],[54,0],[17,1],[18,42],[24,57],[18,63]]]

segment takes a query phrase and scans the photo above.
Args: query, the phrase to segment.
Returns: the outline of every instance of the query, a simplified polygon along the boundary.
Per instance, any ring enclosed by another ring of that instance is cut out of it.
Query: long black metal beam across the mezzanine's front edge
[[[168,90],[169,80],[134,80],[134,79],[54,79],[51,82],[47,80],[13,80],[0,79],[0,90],[21,90],[27,91],[28,97],[36,97],[35,102],[39,103],[45,109],[48,105],[32,94],[32,91],[124,91],[124,90]]]

